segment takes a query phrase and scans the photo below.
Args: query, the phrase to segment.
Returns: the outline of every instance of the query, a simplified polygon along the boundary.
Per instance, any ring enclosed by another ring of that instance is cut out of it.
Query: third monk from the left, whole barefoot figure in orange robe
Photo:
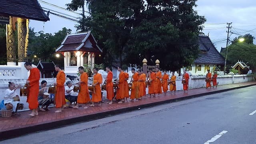
[[[78,72],[80,73],[80,81],[78,84],[80,84],[80,90],[77,96],[77,102],[76,106],[73,108],[79,108],[79,104],[86,104],[87,102],[90,102],[90,96],[89,96],[89,90],[88,90],[88,74],[84,72],[84,67],[80,66],[78,68]],[[84,106],[84,109],[88,108],[86,105]]]

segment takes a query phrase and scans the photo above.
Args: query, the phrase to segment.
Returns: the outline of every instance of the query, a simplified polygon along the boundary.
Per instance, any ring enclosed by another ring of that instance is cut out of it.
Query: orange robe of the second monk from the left
[[[56,76],[57,86],[56,86],[56,94],[54,96],[56,108],[61,108],[64,104],[66,104],[65,88],[64,88],[65,81],[66,81],[66,75],[61,70],[58,72]]]

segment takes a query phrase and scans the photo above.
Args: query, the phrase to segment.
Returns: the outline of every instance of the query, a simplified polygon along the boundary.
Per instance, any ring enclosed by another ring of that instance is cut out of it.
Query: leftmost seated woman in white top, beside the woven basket
[[[15,96],[18,96],[18,94],[15,93],[15,90],[17,90],[19,86],[16,87],[13,82],[8,82],[8,83],[9,83],[9,88],[5,91],[5,94],[4,94],[4,105],[6,106],[8,104],[9,106],[12,106],[12,111],[14,116],[18,116],[20,115],[17,112],[20,106],[20,102],[14,101],[13,98]]]

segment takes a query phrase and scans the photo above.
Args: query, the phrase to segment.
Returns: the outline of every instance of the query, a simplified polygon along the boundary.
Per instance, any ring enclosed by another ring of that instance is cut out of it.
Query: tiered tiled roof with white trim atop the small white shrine
[[[102,52],[90,32],[69,34],[65,37],[61,44],[62,45],[56,49],[56,52]]]

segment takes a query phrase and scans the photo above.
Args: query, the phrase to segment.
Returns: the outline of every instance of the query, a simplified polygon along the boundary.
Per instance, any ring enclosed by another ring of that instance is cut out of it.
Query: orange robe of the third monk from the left
[[[89,96],[89,90],[88,90],[88,74],[86,72],[83,72],[80,75],[80,90],[77,96],[77,102],[80,104],[86,104],[87,102],[90,102],[90,96]]]

